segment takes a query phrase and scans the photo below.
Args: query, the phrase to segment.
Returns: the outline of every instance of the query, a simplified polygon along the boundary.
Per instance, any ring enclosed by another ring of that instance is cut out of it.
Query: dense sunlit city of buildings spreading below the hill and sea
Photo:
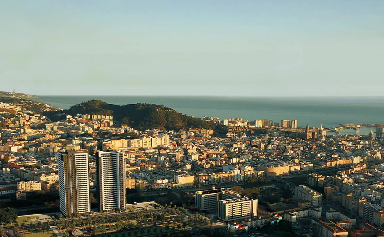
[[[23,101],[0,102],[0,236],[384,236],[382,127],[139,131],[102,114],[52,122]]]

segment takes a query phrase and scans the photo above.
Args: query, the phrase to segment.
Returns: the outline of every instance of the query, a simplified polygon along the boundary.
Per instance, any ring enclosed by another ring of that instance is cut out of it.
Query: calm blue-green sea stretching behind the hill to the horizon
[[[243,118],[245,120],[297,119],[298,126],[325,128],[340,123],[384,123],[384,96],[379,97],[265,97],[265,96],[37,96],[36,101],[68,109],[83,101],[99,99],[110,104],[153,103],[163,104],[183,114]],[[368,134],[374,128],[341,130],[340,134]]]

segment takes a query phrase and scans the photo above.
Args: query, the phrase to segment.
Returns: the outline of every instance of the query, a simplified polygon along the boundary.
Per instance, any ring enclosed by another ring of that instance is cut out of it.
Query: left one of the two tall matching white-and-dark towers
[[[88,151],[58,152],[57,161],[61,213],[66,217],[89,214]]]

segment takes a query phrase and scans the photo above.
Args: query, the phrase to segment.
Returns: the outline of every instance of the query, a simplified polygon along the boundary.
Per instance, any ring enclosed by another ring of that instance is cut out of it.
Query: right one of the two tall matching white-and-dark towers
[[[99,212],[125,210],[126,176],[122,152],[99,151],[96,161]]]

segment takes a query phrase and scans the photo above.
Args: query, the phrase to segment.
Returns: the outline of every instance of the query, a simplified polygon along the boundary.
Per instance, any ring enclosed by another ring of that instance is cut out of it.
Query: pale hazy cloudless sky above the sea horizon
[[[0,90],[384,93],[383,0],[4,0]]]

